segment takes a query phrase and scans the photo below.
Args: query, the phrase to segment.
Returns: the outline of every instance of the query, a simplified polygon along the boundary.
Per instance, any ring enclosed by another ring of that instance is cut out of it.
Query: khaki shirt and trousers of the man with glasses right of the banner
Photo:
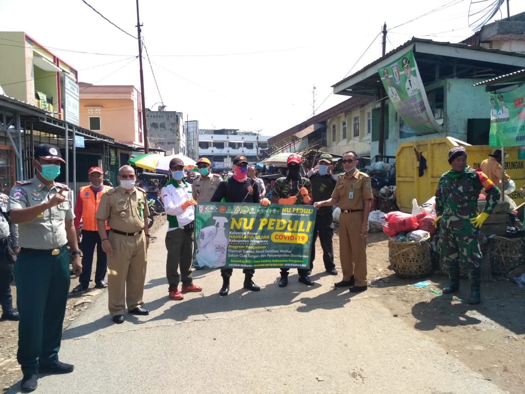
[[[355,170],[351,177],[337,178],[332,197],[339,198],[339,258],[343,281],[354,276],[355,286],[367,286],[366,237],[361,236],[365,200],[373,198],[370,177]]]

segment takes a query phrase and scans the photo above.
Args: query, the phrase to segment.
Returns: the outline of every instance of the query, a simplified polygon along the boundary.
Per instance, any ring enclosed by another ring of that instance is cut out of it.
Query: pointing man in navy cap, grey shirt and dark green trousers
[[[61,162],[65,163],[56,147],[36,147],[35,177],[17,182],[7,207],[19,233],[20,253],[14,266],[20,314],[17,360],[25,391],[36,389],[37,372],[67,374],[74,369],[58,361],[70,284],[66,244],[74,254],[73,271],[82,271],[71,194],[67,185],[55,182]]]

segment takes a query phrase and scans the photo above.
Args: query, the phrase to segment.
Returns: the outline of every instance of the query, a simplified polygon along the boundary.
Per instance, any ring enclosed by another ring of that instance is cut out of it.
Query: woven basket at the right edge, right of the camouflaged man
[[[495,236],[489,242],[490,267],[493,274],[508,274],[525,261],[525,242],[522,238]]]

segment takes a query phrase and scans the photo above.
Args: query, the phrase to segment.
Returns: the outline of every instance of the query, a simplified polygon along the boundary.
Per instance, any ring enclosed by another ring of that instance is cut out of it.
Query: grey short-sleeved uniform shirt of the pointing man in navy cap
[[[53,182],[50,188],[37,177],[16,182],[9,196],[7,211],[28,208],[49,201],[66,185]],[[28,222],[18,224],[18,244],[30,249],[51,250],[67,244],[66,220],[73,220],[72,194],[66,200],[49,208]]]

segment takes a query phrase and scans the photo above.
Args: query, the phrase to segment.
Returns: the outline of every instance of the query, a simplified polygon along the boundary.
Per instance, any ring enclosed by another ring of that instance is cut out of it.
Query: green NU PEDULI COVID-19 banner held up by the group
[[[311,205],[200,203],[195,207],[195,268],[309,268]]]

